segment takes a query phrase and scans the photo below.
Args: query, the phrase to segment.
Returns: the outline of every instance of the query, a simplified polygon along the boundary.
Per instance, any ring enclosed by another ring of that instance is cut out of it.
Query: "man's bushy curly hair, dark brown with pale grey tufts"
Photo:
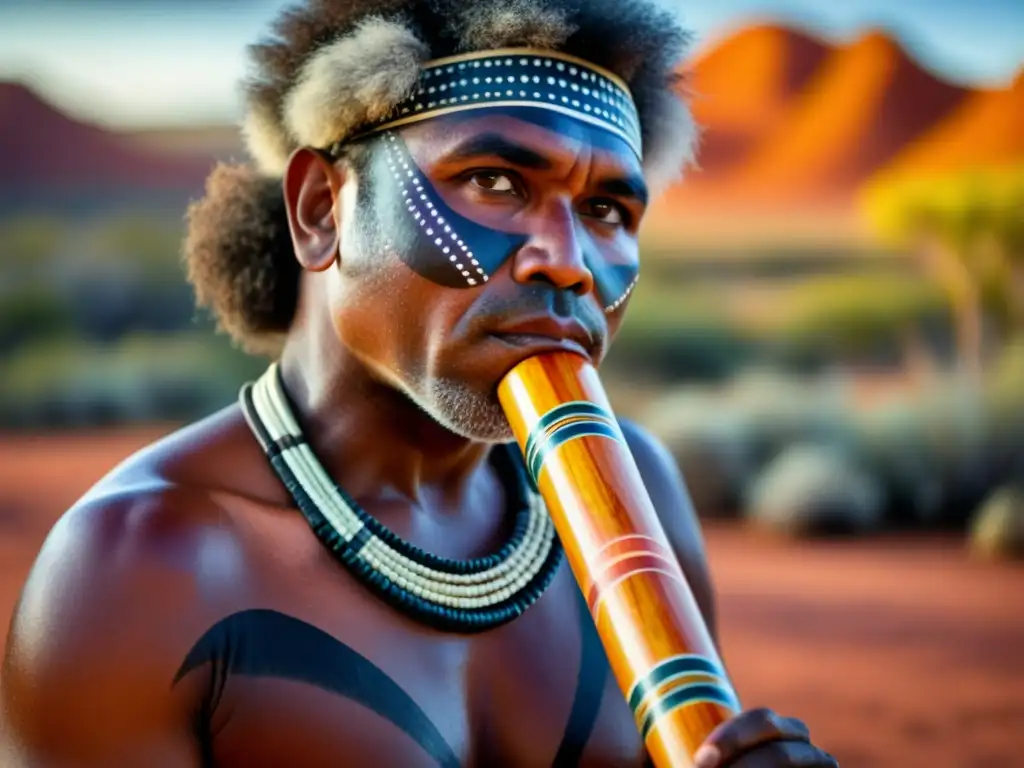
[[[697,131],[679,74],[689,42],[656,0],[305,0],[286,9],[249,48],[242,130],[252,162],[218,165],[188,207],[197,303],[245,349],[280,350],[300,275],[281,188],[288,157],[387,114],[431,58],[525,46],[613,72],[640,116],[648,182],[664,186],[693,160]]]

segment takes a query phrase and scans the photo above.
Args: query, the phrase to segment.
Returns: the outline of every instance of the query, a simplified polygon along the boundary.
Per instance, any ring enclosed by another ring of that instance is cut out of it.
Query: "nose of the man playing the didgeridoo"
[[[570,204],[548,206],[534,219],[529,239],[514,256],[512,276],[519,283],[548,283],[580,296],[590,293],[594,275],[584,261],[579,225]]]

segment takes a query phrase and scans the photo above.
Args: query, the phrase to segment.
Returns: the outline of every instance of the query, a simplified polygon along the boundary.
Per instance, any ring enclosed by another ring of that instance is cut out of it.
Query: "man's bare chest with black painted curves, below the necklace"
[[[523,616],[470,638],[227,617],[211,667],[214,765],[639,768],[643,748],[566,569]]]

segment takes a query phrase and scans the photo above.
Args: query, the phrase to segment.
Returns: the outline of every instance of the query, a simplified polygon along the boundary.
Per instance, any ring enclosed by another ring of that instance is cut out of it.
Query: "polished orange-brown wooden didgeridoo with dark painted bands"
[[[648,754],[691,768],[740,706],[597,371],[543,354],[498,394]]]

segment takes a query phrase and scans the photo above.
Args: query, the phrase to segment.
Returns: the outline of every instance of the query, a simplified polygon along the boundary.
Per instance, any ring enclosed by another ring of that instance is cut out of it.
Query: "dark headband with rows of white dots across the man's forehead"
[[[347,141],[467,110],[531,106],[602,128],[643,159],[640,118],[626,83],[564,53],[502,48],[423,65],[417,88],[383,119]]]

